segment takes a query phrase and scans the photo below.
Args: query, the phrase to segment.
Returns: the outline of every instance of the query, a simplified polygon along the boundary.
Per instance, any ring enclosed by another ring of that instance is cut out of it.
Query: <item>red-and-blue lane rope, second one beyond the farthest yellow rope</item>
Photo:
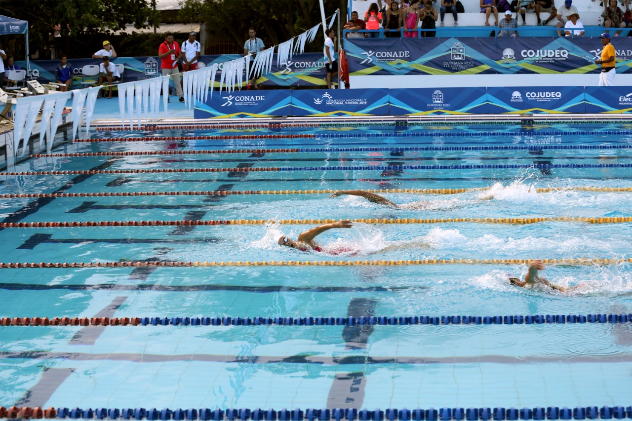
[[[214,154],[274,154],[296,152],[468,152],[475,150],[566,150],[566,149],[632,149],[632,145],[542,145],[542,146],[404,146],[404,147],[348,147],[348,148],[290,148],[290,149],[209,149],[209,150],[142,150],[126,152],[76,152],[67,154],[33,154],[32,158],[92,157],[92,156],[148,156],[148,155],[214,155]]]

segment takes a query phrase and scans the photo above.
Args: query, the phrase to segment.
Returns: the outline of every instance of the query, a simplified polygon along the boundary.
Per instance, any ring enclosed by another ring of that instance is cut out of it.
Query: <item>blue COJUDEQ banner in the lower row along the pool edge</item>
[[[585,113],[583,87],[489,87],[489,114]]]

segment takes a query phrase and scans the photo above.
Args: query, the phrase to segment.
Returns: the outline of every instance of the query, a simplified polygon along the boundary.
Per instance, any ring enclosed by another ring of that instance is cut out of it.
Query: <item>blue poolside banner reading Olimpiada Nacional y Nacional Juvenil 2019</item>
[[[293,116],[387,116],[389,90],[309,89],[292,91]]]

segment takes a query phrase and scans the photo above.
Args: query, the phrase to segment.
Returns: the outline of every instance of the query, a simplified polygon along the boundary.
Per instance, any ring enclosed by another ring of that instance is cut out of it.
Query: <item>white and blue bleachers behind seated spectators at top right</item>
[[[352,0],[351,9],[349,11],[357,11],[358,15],[362,19],[365,11],[368,10],[368,6],[373,3],[372,0]],[[376,2],[377,3],[377,0]],[[385,2],[382,1],[384,4]],[[437,3],[439,1],[437,0]],[[475,0],[461,0],[465,13],[459,13],[459,26],[454,27],[454,18],[451,13],[446,13],[444,18],[444,27],[439,27],[439,20],[437,20],[437,36],[438,37],[482,37],[489,36],[490,31],[494,30],[494,27],[485,26],[485,13],[480,13],[480,7],[478,1]],[[564,6],[562,0],[554,1],[556,8]],[[586,36],[597,36],[601,32],[604,32],[604,27],[597,27],[597,19],[604,11],[603,6],[599,5],[600,0],[573,0],[573,6],[575,6],[580,13],[580,21],[586,28]],[[439,3],[440,4],[440,3]],[[437,7],[437,13],[439,8]],[[544,20],[549,16],[549,13],[540,13],[540,18]],[[502,13],[499,13],[499,19],[502,19]],[[515,17],[515,14],[514,14]],[[346,19],[344,19],[346,21]],[[490,16],[490,24],[494,24],[494,15]],[[537,18],[535,13],[526,13],[526,25],[522,25],[522,18],[518,18],[518,24],[520,25],[518,30],[522,31],[521,36],[555,36],[557,35],[555,29],[555,22],[550,21],[546,27],[537,26]],[[623,34],[622,34],[623,35]],[[626,34],[627,35],[627,34]]]

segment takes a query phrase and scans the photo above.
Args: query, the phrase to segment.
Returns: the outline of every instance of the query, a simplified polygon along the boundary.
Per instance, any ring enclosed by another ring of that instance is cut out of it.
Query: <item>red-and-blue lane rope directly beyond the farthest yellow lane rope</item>
[[[77,175],[77,174],[158,174],[158,173],[249,173],[257,171],[404,171],[407,169],[556,169],[556,168],[632,168],[632,164],[455,164],[455,165],[365,165],[331,167],[255,167],[255,168],[161,168],[100,169],[77,171],[20,171],[0,176]]]

